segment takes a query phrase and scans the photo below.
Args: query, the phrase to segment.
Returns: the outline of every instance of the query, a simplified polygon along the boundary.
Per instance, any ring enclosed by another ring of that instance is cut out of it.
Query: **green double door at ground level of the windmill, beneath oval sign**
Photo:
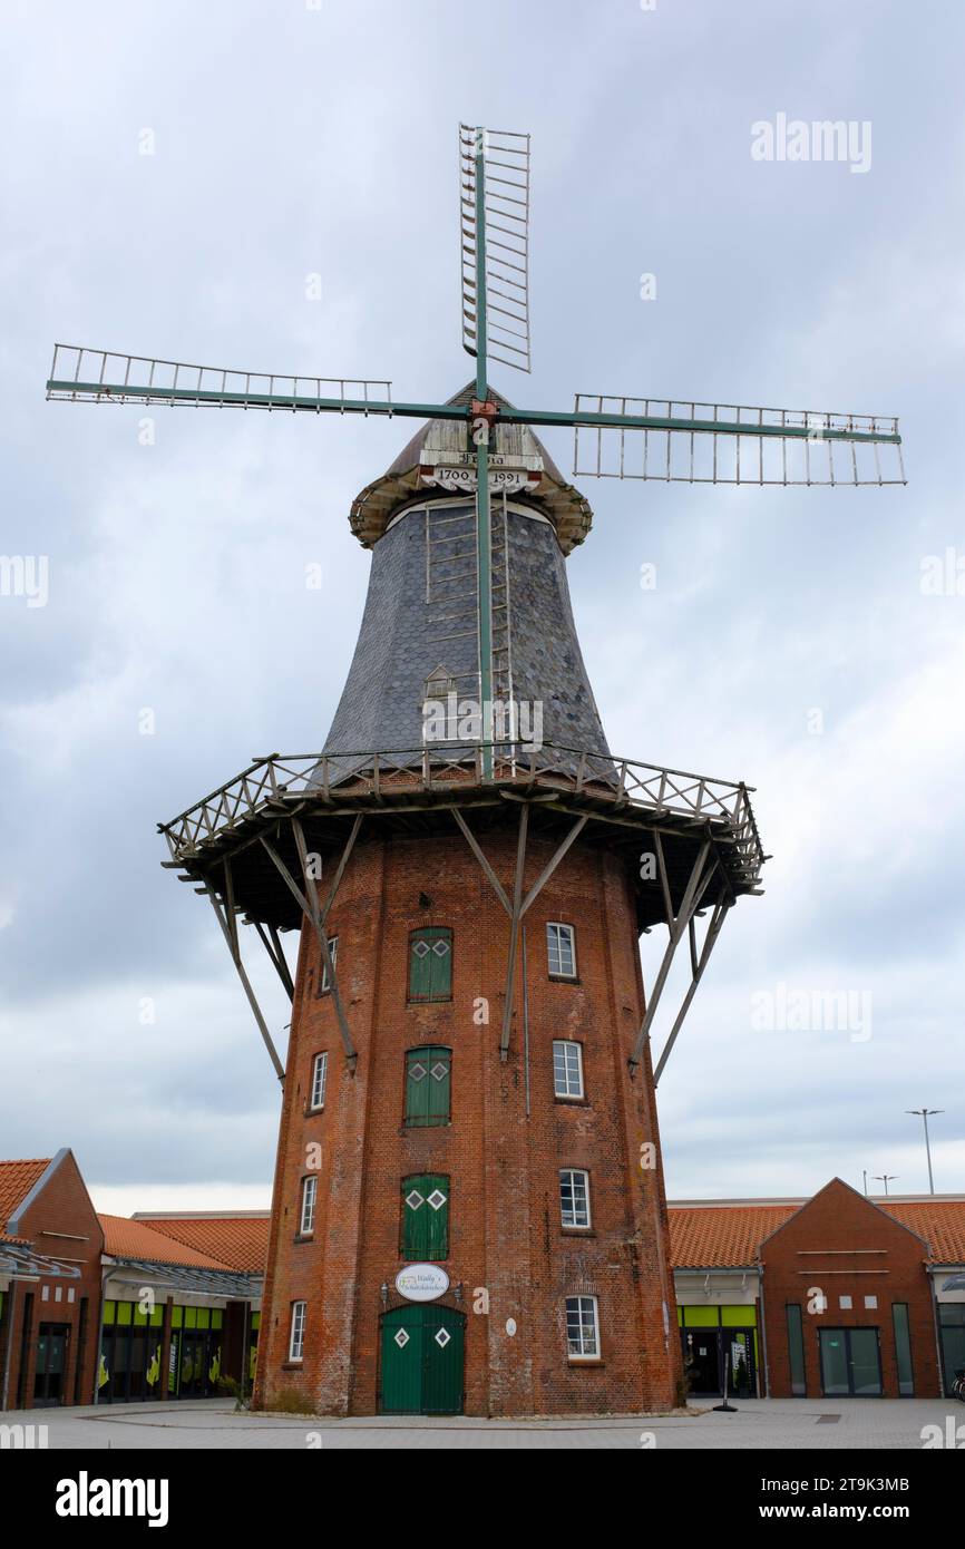
[[[383,1414],[462,1414],[465,1314],[409,1303],[383,1315]]]

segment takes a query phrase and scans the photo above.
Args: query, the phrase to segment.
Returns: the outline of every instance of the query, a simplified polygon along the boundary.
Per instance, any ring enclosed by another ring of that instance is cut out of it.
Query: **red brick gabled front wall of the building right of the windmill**
[[[822,1188],[761,1250],[770,1394],[792,1397],[787,1304],[801,1306],[807,1397],[821,1396],[819,1327],[880,1329],[884,1397],[898,1397],[892,1303],[908,1304],[915,1397],[937,1397],[934,1314],[920,1238],[840,1179]],[[812,1287],[827,1300],[826,1312],[809,1312]],[[852,1298],[841,1310],[840,1297]],[[878,1298],[866,1309],[864,1298]]]

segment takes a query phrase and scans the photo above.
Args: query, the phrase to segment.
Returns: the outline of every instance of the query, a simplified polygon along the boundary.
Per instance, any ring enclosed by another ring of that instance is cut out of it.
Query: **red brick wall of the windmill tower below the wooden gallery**
[[[531,886],[558,840],[531,840]],[[516,826],[483,836],[503,886]],[[324,889],[322,889],[324,891]],[[420,906],[420,892],[432,903]],[[547,974],[545,922],[576,926],[578,984]],[[407,1005],[409,932],[454,931],[452,1001]],[[522,967],[510,1056],[499,1058],[508,917],[465,840],[454,833],[359,840],[328,934],[339,937],[338,979],[358,1049],[347,1069],[330,996],[316,996],[319,951],[302,936],[279,1137],[273,1231],[256,1403],[296,1389],[311,1410],[372,1414],[378,1402],[379,1287],[400,1258],[400,1182],[451,1179],[449,1259],[466,1312],[466,1411],[527,1414],[668,1408],[680,1377],[666,1270],[660,1168],[640,1168],[657,1142],[649,1058],[630,1081],[627,1055],[643,1015],[630,888],[621,863],[576,843],[525,915],[531,1115],[525,1114]],[[488,999],[488,1025],[474,1002]],[[586,1104],[553,1097],[551,1041],[584,1044]],[[452,1120],[403,1128],[404,1052],[452,1049]],[[305,1117],[313,1055],[328,1050],[325,1111]],[[305,1146],[321,1145],[314,1235],[296,1242]],[[587,1168],[592,1233],[559,1224],[561,1166]],[[582,1241],[579,1241],[582,1238]],[[489,1314],[472,1292],[489,1292]],[[599,1300],[601,1362],[570,1365],[564,1297]],[[395,1297],[392,1290],[392,1297]],[[290,1304],[308,1303],[305,1358],[287,1363]],[[452,1292],[445,1298],[457,1304]],[[666,1327],[665,1334],[665,1303]],[[507,1320],[517,1332],[510,1337]]]

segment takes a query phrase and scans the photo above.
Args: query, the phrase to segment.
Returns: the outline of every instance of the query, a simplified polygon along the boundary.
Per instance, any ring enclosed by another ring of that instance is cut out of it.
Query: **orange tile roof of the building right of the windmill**
[[[754,1264],[764,1238],[807,1200],[671,1205],[674,1269],[737,1269]],[[937,1264],[965,1264],[965,1199],[875,1200],[931,1247]]]

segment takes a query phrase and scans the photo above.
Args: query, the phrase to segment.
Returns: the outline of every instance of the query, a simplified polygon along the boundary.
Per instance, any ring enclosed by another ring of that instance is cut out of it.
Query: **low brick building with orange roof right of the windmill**
[[[934,1397],[965,1366],[965,1196],[669,1207],[691,1394]]]

